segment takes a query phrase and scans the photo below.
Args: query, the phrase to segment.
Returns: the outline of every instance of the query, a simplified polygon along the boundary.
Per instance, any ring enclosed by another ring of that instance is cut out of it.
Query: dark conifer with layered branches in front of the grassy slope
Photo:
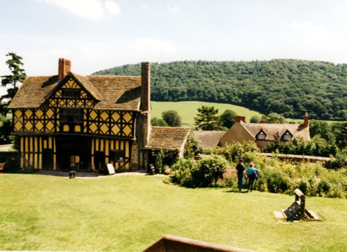
[[[209,106],[201,106],[198,108],[198,114],[194,117],[196,129],[202,130],[219,130],[221,124],[217,116],[218,109]]]

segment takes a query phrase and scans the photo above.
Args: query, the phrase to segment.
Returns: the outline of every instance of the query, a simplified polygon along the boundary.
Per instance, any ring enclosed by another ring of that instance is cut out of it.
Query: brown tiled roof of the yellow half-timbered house
[[[141,77],[114,75],[77,75],[69,73],[61,82],[58,76],[27,77],[9,105],[10,109],[35,108],[44,104],[60,83],[74,78],[95,99],[94,109],[139,110]]]

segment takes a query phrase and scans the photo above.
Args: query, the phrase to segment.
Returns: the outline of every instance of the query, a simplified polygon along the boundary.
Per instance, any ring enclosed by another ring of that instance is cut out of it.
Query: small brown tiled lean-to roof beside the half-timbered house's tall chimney
[[[189,127],[151,127],[151,135],[146,149],[180,150],[187,140]]]

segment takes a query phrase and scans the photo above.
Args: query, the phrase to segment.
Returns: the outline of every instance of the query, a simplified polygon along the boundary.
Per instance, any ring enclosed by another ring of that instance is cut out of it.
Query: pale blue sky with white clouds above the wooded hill
[[[85,75],[142,61],[347,63],[345,0],[2,0],[0,17],[0,75],[10,51],[28,75],[56,74],[59,57]]]

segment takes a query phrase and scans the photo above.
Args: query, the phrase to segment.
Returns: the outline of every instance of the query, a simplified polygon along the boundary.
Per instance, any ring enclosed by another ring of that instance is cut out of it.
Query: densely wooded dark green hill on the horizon
[[[139,64],[98,71],[140,75]],[[306,60],[151,64],[155,101],[223,102],[286,118],[347,120],[347,64]]]

